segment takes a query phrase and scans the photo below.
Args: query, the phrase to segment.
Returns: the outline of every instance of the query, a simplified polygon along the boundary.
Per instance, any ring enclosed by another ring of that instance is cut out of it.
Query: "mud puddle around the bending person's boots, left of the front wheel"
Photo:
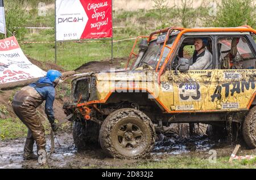
[[[0,169],[3,168],[45,168],[36,160],[23,160],[25,138],[0,142]],[[51,149],[47,136],[46,151]],[[34,145],[34,153],[36,146]],[[119,160],[106,157],[100,148],[77,151],[72,134],[61,133],[55,138],[55,152],[49,157],[47,168],[113,168],[132,164],[137,160]]]

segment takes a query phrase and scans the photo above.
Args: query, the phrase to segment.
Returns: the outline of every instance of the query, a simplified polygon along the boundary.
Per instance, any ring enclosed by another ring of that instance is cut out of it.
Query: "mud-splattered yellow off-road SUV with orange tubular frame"
[[[238,127],[256,148],[255,34],[248,26],[170,27],[139,36],[126,68],[72,80],[64,109],[77,148],[100,143],[112,157],[146,157],[172,123],[199,122],[215,134]],[[195,38],[207,39],[212,68],[189,70]]]

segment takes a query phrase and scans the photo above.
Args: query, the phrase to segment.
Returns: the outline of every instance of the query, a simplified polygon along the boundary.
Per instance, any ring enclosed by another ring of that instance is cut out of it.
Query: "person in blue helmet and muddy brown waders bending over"
[[[56,131],[57,126],[53,112],[53,101],[55,99],[55,87],[59,83],[61,73],[56,70],[49,70],[45,77],[27,85],[16,92],[13,99],[13,110],[19,119],[27,126],[27,139],[24,145],[23,158],[26,160],[36,159],[33,153],[33,145],[36,142],[37,151],[42,149],[46,152],[46,137],[44,127],[40,121],[36,108],[43,101],[46,101],[45,112],[52,130]]]

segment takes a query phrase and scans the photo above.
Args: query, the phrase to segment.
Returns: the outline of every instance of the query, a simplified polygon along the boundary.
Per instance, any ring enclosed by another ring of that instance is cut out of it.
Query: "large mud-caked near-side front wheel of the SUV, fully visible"
[[[146,158],[155,144],[154,125],[139,110],[116,110],[101,125],[100,144],[110,157]]]

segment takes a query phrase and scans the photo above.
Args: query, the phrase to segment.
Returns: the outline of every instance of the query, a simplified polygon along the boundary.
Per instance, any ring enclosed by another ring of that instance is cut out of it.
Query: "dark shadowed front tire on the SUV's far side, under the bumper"
[[[72,134],[77,149],[91,149],[100,147],[98,143],[98,135],[100,126],[93,121],[73,122]]]

